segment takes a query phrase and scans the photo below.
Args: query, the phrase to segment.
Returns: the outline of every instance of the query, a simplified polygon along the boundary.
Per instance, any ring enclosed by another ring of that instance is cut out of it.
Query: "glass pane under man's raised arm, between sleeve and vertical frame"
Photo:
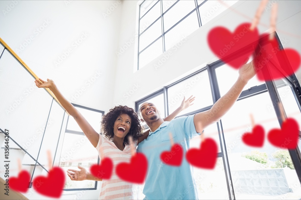
[[[217,130],[217,124],[213,123],[210,124],[208,127],[206,127],[206,129],[204,130],[204,137],[205,138],[212,138],[214,139],[214,141],[217,144],[217,151],[218,152],[222,152],[221,150],[221,145],[219,142],[219,132]],[[190,148],[194,147],[194,148],[200,148],[200,143],[201,143],[201,137],[194,137],[190,140]]]

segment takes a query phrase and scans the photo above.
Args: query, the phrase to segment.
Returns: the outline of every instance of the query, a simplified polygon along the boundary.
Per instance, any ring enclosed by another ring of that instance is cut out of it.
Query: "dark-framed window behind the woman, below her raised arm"
[[[95,131],[100,132],[100,121],[103,111],[76,106],[76,109],[86,118]],[[87,137],[82,133],[78,124],[72,117],[68,117],[67,127],[65,130],[64,142],[60,157],[61,166],[66,171],[67,169],[76,169],[77,166],[82,166],[88,171],[90,167],[99,163],[97,150],[91,145]],[[63,165],[66,163],[66,166]],[[66,173],[66,184],[64,190],[96,190],[97,181],[71,181]]]

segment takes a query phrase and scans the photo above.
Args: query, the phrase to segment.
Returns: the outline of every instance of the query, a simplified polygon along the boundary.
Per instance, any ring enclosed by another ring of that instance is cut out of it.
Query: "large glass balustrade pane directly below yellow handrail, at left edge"
[[[10,137],[36,158],[53,98],[36,86],[7,49],[0,59],[0,71],[0,127],[10,130]]]

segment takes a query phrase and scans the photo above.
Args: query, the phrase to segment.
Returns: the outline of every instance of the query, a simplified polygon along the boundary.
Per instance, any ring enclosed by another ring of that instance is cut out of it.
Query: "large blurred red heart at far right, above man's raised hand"
[[[282,76],[290,76],[298,70],[301,58],[296,50],[290,48],[280,50],[275,37],[273,40],[268,40],[267,34],[262,34],[261,37],[259,40],[259,44],[262,46],[261,55],[256,56],[254,62],[259,80],[280,79]]]

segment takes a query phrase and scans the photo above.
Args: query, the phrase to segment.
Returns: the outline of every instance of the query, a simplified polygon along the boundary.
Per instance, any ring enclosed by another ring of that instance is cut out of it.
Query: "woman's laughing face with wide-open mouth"
[[[120,114],[114,123],[114,135],[124,138],[131,128],[132,120],[127,114]]]

